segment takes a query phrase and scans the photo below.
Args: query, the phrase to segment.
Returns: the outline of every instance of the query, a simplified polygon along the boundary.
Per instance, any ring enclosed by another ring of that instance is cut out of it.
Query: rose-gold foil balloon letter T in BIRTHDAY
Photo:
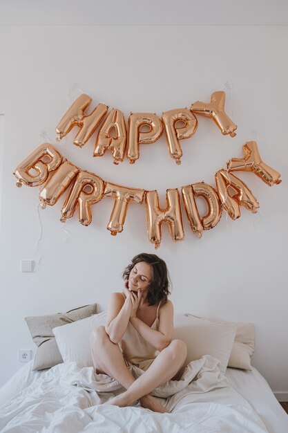
[[[113,183],[106,184],[104,195],[106,197],[113,197],[115,200],[113,211],[107,225],[108,230],[111,231],[113,236],[123,230],[128,203],[142,203],[144,193],[144,190],[122,187],[120,185],[114,185]]]

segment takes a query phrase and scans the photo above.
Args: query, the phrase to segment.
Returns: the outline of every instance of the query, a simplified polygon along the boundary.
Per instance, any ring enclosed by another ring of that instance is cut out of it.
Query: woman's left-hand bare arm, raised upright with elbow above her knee
[[[105,331],[115,344],[119,343],[127,329],[131,309],[130,297],[124,300],[122,293],[112,293],[108,303]]]

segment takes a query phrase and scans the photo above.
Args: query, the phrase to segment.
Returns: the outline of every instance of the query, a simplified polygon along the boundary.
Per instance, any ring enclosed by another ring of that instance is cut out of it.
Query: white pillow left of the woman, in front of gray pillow
[[[52,331],[64,362],[77,362],[79,367],[93,367],[90,333],[94,326],[105,324],[105,321],[106,311],[53,328]]]

